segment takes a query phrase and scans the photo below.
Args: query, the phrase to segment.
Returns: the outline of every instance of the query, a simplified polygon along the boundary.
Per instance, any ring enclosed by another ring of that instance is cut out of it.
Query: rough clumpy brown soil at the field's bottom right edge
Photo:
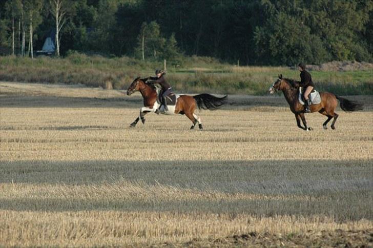
[[[333,232],[322,231],[307,233],[258,234],[255,232],[234,235],[232,237],[211,240],[193,239],[183,246],[220,246],[220,247],[373,247],[373,229],[363,231],[344,231],[337,229]]]

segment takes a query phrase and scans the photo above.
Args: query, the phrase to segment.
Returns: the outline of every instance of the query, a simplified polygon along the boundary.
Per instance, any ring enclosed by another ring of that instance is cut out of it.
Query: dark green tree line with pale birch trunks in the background
[[[69,51],[143,60],[215,57],[240,65],[372,61],[366,0],[0,1],[0,53],[33,56],[54,30]]]

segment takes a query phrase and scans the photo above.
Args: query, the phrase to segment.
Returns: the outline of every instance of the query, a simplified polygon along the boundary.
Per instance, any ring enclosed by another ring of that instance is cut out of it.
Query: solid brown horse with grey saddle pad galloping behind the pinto
[[[282,74],[278,76],[278,79],[273,83],[268,92],[273,94],[275,91],[281,90],[284,93],[286,101],[288,102],[291,111],[295,114],[295,119],[297,120],[297,125],[303,130],[312,130],[311,127],[307,127],[307,122],[304,117],[304,106],[300,104],[298,100],[299,82],[282,78]],[[324,129],[327,129],[327,123],[331,118],[333,122],[331,123],[331,129],[335,129],[335,123],[338,118],[338,114],[335,112],[338,101],[340,101],[341,109],[344,111],[357,111],[362,110],[363,105],[350,101],[340,96],[331,94],[329,92],[320,92],[321,102],[320,104],[313,104],[310,106],[311,113],[318,111],[320,114],[327,116],[326,121],[322,124]],[[300,120],[302,120],[304,127],[301,126]]]

